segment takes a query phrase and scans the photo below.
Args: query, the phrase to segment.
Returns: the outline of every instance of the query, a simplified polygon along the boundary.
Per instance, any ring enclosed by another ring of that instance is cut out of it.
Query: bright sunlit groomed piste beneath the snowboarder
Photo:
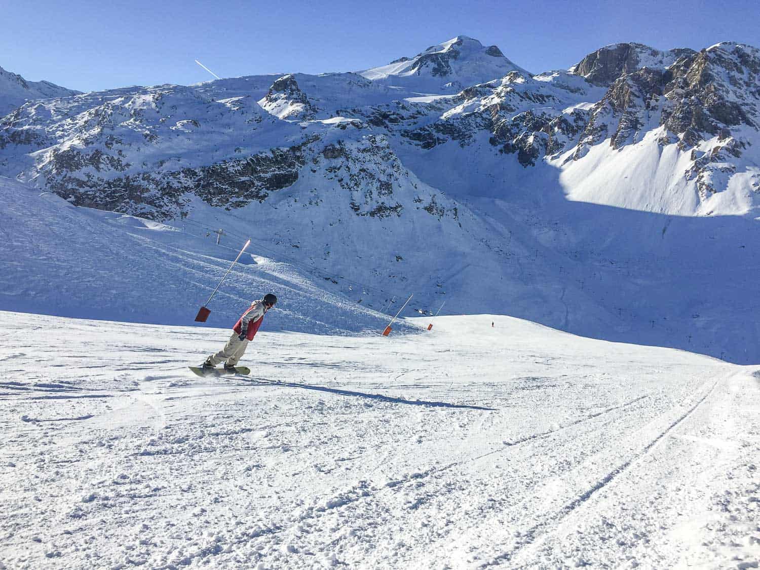
[[[0,312],[0,568],[757,568],[757,366],[427,323],[198,378],[228,330]]]

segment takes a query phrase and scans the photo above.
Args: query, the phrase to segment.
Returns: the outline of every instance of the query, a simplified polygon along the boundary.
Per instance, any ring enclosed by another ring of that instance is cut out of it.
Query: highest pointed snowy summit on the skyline
[[[402,57],[388,65],[359,71],[359,75],[394,87],[426,93],[458,93],[465,87],[502,78],[510,71],[527,71],[505,57],[497,46],[456,36],[430,46],[412,58]]]

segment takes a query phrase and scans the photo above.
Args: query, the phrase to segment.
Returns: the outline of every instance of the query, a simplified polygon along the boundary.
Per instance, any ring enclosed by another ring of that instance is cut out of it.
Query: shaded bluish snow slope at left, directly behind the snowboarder
[[[6,310],[189,325],[245,242],[225,236],[216,245],[216,235],[189,222],[173,227],[74,207],[3,179],[0,208]],[[320,275],[267,254],[249,247],[214,297],[209,324],[231,326],[271,291],[283,302],[268,314],[267,330],[352,334],[387,324],[385,315],[325,290]]]

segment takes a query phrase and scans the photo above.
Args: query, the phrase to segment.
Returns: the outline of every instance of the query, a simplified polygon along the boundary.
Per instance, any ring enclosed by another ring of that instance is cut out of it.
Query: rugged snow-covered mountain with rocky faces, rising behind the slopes
[[[374,308],[415,293],[750,362],[758,74],[757,49],[721,43],[531,75],[459,36],[359,73],[24,103],[0,119],[0,175],[255,236]]]

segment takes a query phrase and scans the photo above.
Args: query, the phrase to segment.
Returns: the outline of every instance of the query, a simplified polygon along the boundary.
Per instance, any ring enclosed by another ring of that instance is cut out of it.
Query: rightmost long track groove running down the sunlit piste
[[[715,381],[712,387],[703,395],[699,400],[689,408],[689,410],[686,410],[685,413],[683,413],[681,416],[679,416],[676,420],[674,420],[670,425],[667,426],[666,429],[663,430],[663,432],[660,432],[657,437],[655,437],[651,442],[649,442],[647,445],[644,446],[644,448],[641,449],[635,456],[630,458],[628,461],[625,461],[625,463],[619,465],[610,473],[607,473],[605,477],[603,477],[601,480],[597,481],[594,486],[591,486],[591,488],[587,489],[585,492],[583,492],[580,496],[578,496],[575,500],[568,503],[568,505],[565,505],[563,508],[561,508],[556,513],[553,513],[550,517],[545,518],[540,523],[534,525],[533,527],[530,527],[529,530],[521,534],[521,538],[523,540],[519,540],[518,543],[507,553],[502,553],[499,556],[496,556],[496,558],[492,559],[490,562],[484,562],[482,565],[480,565],[480,568],[487,568],[489,566],[499,565],[501,562],[505,560],[511,560],[514,556],[518,555],[522,549],[524,549],[525,546],[530,546],[531,544],[535,543],[536,540],[539,540],[541,537],[537,536],[540,530],[545,529],[549,524],[556,525],[559,523],[559,521],[562,521],[566,517],[572,514],[573,511],[575,511],[576,508],[583,505],[585,502],[587,502],[589,499],[591,499],[591,496],[594,495],[597,491],[600,489],[603,489],[607,485],[609,485],[620,473],[628,469],[632,464],[634,464],[636,461],[644,457],[648,453],[648,451],[651,451],[652,448],[654,448],[654,445],[657,444],[657,442],[660,442],[661,439],[665,435],[667,435],[671,430],[673,430],[676,426],[679,425],[683,420],[686,420],[688,416],[690,416],[694,410],[696,410],[699,405],[704,402],[707,397],[713,393],[715,387],[717,386],[718,381]]]

